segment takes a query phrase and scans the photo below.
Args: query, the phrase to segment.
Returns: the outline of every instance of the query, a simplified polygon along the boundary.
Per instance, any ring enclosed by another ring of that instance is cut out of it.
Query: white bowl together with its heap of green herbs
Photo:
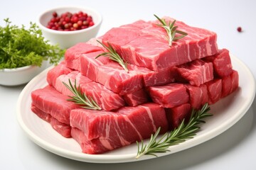
[[[0,26],[0,85],[26,84],[46,69],[48,64],[57,64],[65,50],[50,45],[43,38],[36,23],[29,28],[11,25],[9,18]]]

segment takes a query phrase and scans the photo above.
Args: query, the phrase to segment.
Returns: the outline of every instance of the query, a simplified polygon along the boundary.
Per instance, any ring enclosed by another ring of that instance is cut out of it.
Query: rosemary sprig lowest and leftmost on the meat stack
[[[101,110],[100,106],[92,99],[88,98],[85,94],[82,94],[80,86],[77,87],[76,80],[74,86],[72,85],[70,79],[68,79],[69,85],[63,82],[63,84],[75,95],[69,96],[68,101],[73,101],[81,106],[81,108],[87,108],[91,110]]]

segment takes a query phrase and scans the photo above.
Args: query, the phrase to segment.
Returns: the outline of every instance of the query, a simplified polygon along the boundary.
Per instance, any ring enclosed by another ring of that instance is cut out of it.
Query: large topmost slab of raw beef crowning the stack
[[[165,19],[167,23],[174,21],[169,17]],[[209,30],[194,28],[176,21],[178,29],[188,35],[174,41],[169,47],[165,38],[166,30],[156,26],[159,21],[144,23],[141,28],[137,23],[134,23],[134,26],[130,24],[112,28],[102,36],[103,43],[109,42],[124,60],[131,64],[157,71],[218,52],[217,35]]]

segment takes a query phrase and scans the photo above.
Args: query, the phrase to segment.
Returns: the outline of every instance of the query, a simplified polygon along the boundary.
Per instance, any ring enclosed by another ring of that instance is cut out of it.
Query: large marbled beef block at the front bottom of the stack
[[[164,108],[156,103],[123,107],[116,112],[75,109],[70,114],[70,125],[82,131],[81,136],[76,134],[73,137],[78,141],[83,139],[82,151],[89,154],[98,154],[146,139],[159,127],[161,132],[168,129]],[[91,142],[100,145],[87,146]]]

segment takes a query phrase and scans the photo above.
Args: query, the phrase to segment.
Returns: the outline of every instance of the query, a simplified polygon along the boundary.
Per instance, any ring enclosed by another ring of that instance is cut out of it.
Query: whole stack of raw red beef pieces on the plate
[[[173,18],[165,17],[166,22]],[[31,109],[63,137],[73,137],[87,154],[100,154],[176,128],[203,104],[213,104],[238,89],[228,50],[217,35],[176,21],[188,33],[169,47],[158,21],[137,21],[112,28],[100,38],[81,42],[50,69],[48,85],[32,92]],[[97,57],[110,43],[127,62]],[[102,108],[80,108],[63,82],[80,86]]]

